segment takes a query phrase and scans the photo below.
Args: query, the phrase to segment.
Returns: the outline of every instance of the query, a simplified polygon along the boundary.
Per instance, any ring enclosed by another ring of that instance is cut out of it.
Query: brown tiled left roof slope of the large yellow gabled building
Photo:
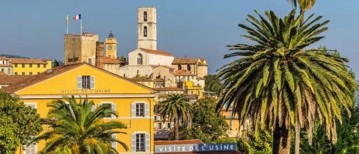
[[[39,73],[37,75],[31,75],[31,76],[29,76],[29,78],[27,78],[27,80],[15,82],[11,86],[5,87],[3,90],[8,92],[8,93],[12,93],[12,92],[20,90],[22,88],[25,88],[25,87],[28,87],[30,85],[33,85],[35,83],[38,83],[38,82],[44,81],[46,79],[49,79],[49,78],[51,78],[51,77],[53,77],[55,75],[58,75],[58,74],[61,74],[63,72],[66,72],[68,70],[71,70],[73,68],[76,68],[78,66],[84,65],[84,64],[85,63],[58,66],[58,67],[53,68],[51,70],[51,72],[49,72],[49,73],[47,71],[45,71],[45,72]]]

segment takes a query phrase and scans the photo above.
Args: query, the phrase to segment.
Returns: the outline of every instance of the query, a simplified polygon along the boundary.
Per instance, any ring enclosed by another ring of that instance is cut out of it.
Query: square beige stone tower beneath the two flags
[[[95,65],[97,34],[65,34],[65,65],[89,63]]]

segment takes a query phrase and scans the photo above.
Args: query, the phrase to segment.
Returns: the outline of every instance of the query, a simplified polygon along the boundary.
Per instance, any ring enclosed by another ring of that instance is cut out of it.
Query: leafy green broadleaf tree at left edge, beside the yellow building
[[[36,109],[16,96],[0,91],[0,153],[14,153],[43,130]],[[14,149],[15,147],[15,149]]]

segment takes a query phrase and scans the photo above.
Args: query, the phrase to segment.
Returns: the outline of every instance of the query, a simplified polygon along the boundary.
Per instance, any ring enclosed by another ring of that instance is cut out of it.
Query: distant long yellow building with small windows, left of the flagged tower
[[[12,58],[9,60],[14,75],[36,75],[52,68],[51,60]]]

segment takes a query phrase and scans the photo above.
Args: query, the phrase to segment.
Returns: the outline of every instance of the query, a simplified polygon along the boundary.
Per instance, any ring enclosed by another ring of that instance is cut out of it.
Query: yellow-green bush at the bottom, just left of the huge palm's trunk
[[[243,153],[272,153],[273,136],[269,130],[248,131],[237,139],[238,150]]]

